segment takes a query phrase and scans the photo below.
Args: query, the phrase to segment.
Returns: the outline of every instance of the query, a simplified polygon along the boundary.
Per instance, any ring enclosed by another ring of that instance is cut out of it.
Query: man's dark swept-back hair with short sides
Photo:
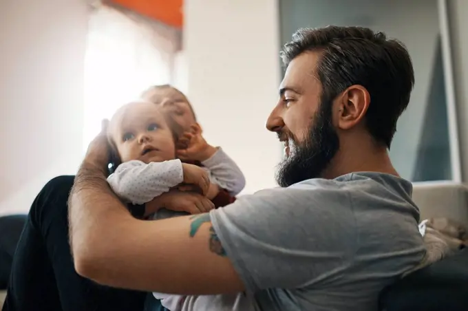
[[[323,89],[321,103],[351,85],[362,85],[370,94],[365,125],[377,142],[390,149],[396,121],[414,85],[412,61],[403,43],[368,28],[302,28],[284,45],[281,58],[288,66],[307,51],[321,53],[314,73]]]

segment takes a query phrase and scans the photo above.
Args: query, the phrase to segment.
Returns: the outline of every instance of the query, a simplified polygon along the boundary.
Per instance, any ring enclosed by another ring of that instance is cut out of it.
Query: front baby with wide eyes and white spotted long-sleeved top
[[[176,133],[160,109],[151,103],[134,102],[118,109],[109,124],[108,136],[112,149],[122,164],[107,179],[114,192],[131,204],[145,204],[167,193],[182,182],[193,184],[209,194],[209,172],[175,158]],[[180,194],[187,197],[188,194]],[[181,201],[187,201],[183,198]],[[198,213],[212,209],[213,203],[202,195],[192,200],[192,206],[178,205],[186,212]],[[158,218],[158,202],[148,213]],[[170,204],[170,202],[169,202]],[[164,206],[167,207],[167,206]],[[169,217],[169,215],[162,216]]]

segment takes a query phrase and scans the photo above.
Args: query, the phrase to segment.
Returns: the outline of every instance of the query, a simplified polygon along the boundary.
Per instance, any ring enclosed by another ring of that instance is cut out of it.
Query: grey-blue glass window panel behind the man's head
[[[398,120],[390,158],[412,182],[459,182],[460,153],[451,83],[445,2],[440,0],[281,0],[281,42],[301,27],[360,25],[405,43],[416,83],[407,110]],[[341,8],[341,10],[340,10]],[[343,8],[346,8],[343,10]]]

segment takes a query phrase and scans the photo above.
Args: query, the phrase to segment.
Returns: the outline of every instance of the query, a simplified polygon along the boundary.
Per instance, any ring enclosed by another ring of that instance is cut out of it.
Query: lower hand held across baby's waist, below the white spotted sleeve
[[[207,213],[215,208],[208,197],[199,193],[169,191],[155,197],[151,202],[145,204],[146,214],[154,213],[160,208],[167,208],[176,212],[187,212],[190,214]]]

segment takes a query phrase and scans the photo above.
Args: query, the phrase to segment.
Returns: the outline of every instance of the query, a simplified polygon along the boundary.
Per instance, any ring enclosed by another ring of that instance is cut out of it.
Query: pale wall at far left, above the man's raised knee
[[[0,1],[0,214],[83,157],[83,0]]]

